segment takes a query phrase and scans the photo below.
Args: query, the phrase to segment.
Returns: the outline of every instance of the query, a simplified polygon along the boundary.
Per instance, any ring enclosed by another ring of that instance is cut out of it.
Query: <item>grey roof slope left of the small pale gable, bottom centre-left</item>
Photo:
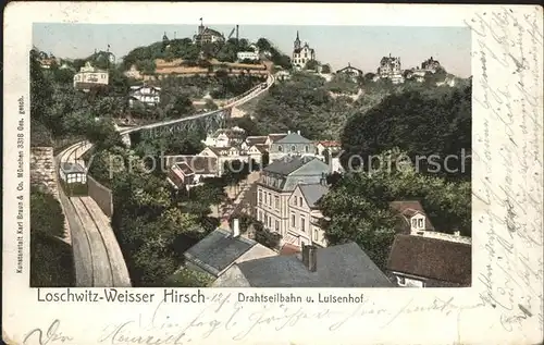
[[[218,276],[255,245],[257,242],[252,239],[233,237],[231,232],[218,227],[185,251],[184,257],[206,272]]]

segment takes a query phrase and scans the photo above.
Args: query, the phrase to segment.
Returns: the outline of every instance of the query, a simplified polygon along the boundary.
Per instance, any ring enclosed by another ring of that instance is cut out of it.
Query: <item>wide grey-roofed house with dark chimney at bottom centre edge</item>
[[[222,287],[394,287],[355,243],[233,264]]]

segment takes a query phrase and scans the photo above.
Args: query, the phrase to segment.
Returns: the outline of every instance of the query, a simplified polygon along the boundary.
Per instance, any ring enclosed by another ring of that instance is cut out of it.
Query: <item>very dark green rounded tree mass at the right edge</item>
[[[368,168],[370,156],[398,147],[421,172],[470,178],[471,87],[391,95],[354,114],[342,143],[345,165],[358,156]]]

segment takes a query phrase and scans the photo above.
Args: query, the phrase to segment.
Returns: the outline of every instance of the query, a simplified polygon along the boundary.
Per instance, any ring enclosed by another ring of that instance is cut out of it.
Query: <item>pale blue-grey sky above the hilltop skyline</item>
[[[227,36],[233,25],[206,26]],[[72,24],[35,23],[33,45],[58,58],[86,58],[96,50],[115,54],[118,61],[131,50],[162,39],[193,37],[195,25],[150,24]],[[239,25],[239,37],[257,41],[269,39],[284,53],[290,56],[297,30],[302,44],[316,50],[316,58],[329,63],[333,70],[351,66],[375,72],[382,57],[399,57],[403,69],[410,69],[433,58],[460,77],[470,72],[471,36],[468,27],[417,26],[294,26],[294,25]]]

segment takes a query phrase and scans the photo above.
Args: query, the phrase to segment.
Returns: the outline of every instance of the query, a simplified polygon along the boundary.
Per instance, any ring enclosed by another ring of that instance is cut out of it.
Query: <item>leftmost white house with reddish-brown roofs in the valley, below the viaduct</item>
[[[190,188],[202,178],[214,177],[219,173],[218,159],[205,156],[166,156],[166,181],[176,189]]]

